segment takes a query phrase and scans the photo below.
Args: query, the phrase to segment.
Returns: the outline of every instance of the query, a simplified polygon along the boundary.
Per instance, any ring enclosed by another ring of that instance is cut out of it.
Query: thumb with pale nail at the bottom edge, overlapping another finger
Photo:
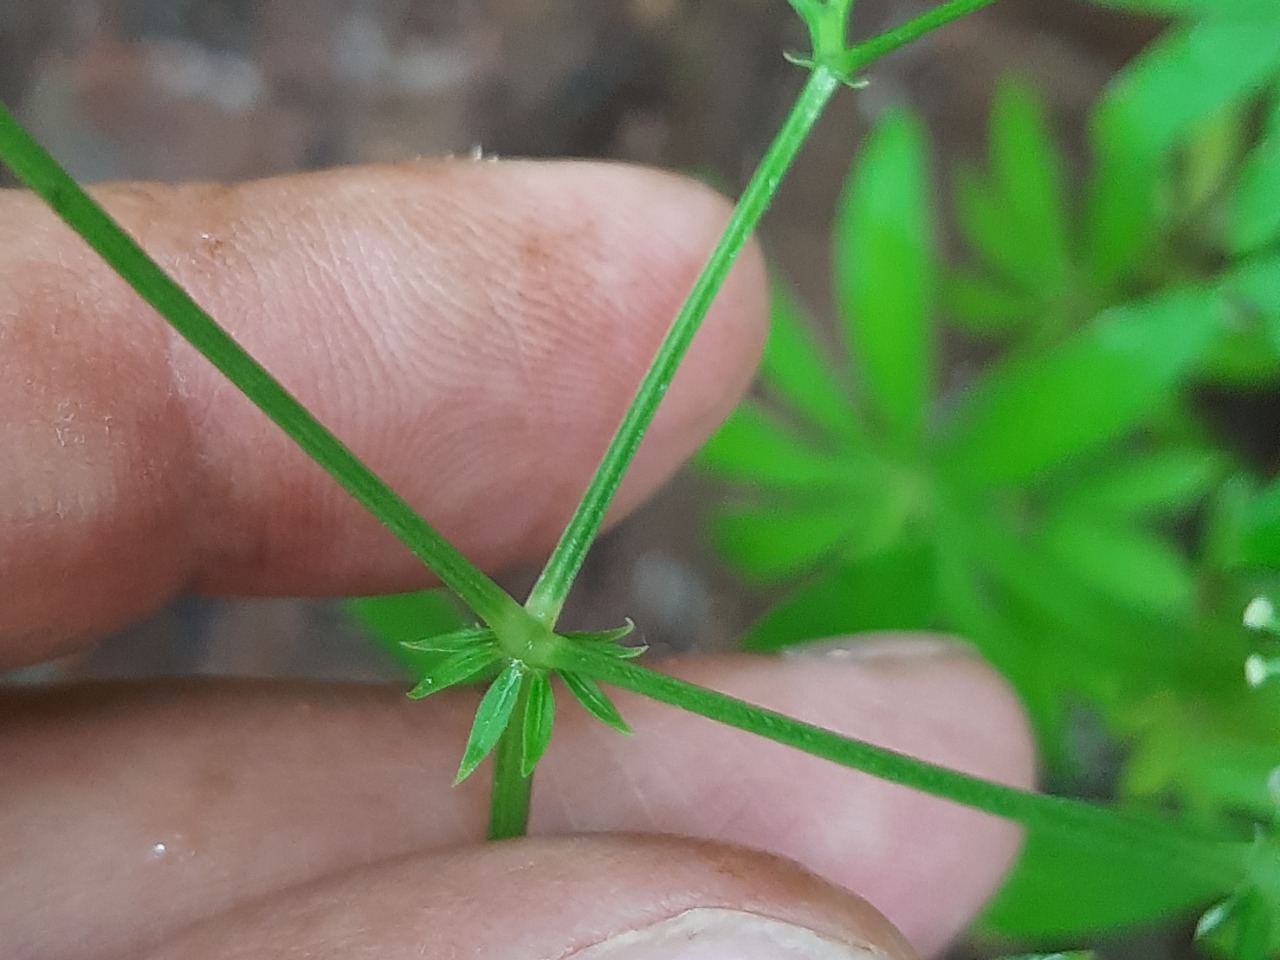
[[[666,837],[522,840],[294,888],[152,960],[910,960],[865,901],[795,864]]]

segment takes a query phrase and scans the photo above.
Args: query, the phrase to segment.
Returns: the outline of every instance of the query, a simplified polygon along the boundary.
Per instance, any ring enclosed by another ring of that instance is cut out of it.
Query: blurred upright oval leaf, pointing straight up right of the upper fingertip
[[[936,364],[933,184],[924,129],[888,111],[836,211],[836,298],[870,411],[901,452],[924,439]]]

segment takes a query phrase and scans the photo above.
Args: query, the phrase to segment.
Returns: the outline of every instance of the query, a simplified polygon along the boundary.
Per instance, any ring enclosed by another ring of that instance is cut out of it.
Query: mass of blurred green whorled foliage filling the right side
[[[758,396],[700,454],[732,485],[710,536],[790,590],[749,649],[963,635],[1020,694],[1051,785],[1098,788],[1101,751],[1119,799],[1257,831],[1239,891],[1032,836],[992,929],[1055,941],[1219,900],[1204,942],[1262,960],[1280,681],[1245,685],[1240,617],[1280,595],[1280,480],[1202,398],[1280,389],[1280,3],[1107,5],[1175,19],[1097,102],[1078,178],[1038,93],[1000,84],[986,164],[951,172],[959,264],[920,120],[881,116],[833,228],[838,348],[778,283]]]

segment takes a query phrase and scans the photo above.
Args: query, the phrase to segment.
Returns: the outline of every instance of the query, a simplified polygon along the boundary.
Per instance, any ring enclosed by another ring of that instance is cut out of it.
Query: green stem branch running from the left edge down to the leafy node
[[[165,320],[494,630],[527,621],[516,600],[420,517],[236,343],[0,104],[0,160]]]

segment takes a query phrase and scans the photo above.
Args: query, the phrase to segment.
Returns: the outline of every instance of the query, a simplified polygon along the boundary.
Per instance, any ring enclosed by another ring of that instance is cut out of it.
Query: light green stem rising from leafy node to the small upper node
[[[838,86],[840,78],[823,67],[815,68],[809,74],[809,79],[783,122],[782,129],[769,145],[755,174],[742,191],[724,233],[694,282],[689,298],[672,321],[671,329],[658,348],[648,372],[645,372],[622,424],[613,434],[582,500],[573,512],[559,543],[556,544],[538,582],[534,584],[525,609],[547,626],[554,626],[559,617],[564,599],[582,567],[582,561],[600,529],[600,524],[604,521],[604,513],[622,475],[631,463],[644,431],[653,420],[658,403],[671,385],[676,369],[689,349],[694,334],[698,333],[703,317],[707,316],[712,301],[724,283],[737,255],[746,246],[746,241],[760,216],[768,209],[783,174],[799,154],[809,131],[813,129],[823,108]]]

